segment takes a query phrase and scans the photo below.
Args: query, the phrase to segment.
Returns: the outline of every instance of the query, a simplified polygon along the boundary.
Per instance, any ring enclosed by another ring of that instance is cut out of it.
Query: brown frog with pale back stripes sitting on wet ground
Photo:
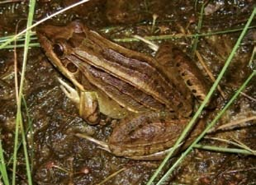
[[[156,57],[126,49],[73,21],[37,29],[50,62],[73,84],[60,81],[80,116],[96,124],[99,114],[121,119],[107,145],[111,153],[135,160],[159,160],[173,146],[208,86],[181,50],[165,44]],[[204,123],[187,137],[184,147]]]

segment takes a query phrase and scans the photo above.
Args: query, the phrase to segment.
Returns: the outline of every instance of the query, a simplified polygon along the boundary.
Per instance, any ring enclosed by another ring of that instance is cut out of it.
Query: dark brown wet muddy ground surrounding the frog
[[[35,21],[50,15],[75,0],[44,1],[36,4]],[[66,25],[80,20],[92,30],[109,39],[132,38],[132,35],[182,35],[178,39],[156,39],[155,44],[174,43],[183,49],[199,67],[197,56],[192,52],[194,38],[187,34],[217,32],[243,28],[253,11],[254,1],[210,1],[206,3],[201,29],[198,28],[202,1],[169,0],[91,0],[68,12],[55,16],[48,23]],[[0,3],[0,35],[13,35],[15,28],[26,25],[28,2]],[[157,16],[155,24],[153,17]],[[18,26],[17,26],[18,24]],[[256,21],[254,18],[253,25]],[[230,54],[240,31],[199,37],[197,52],[207,67],[217,76]],[[36,36],[35,36],[36,37]],[[221,90],[215,94],[216,109],[208,110],[212,115],[225,105],[252,72],[249,58],[256,40],[255,27],[249,29],[222,81]],[[36,42],[36,41],[35,41]],[[154,52],[142,42],[119,42],[129,49],[148,55]],[[17,49],[17,70],[21,72],[22,49]],[[255,62],[255,61],[254,61]],[[210,78],[204,72],[207,81]],[[64,78],[48,61],[40,47],[29,50],[22,104],[28,150],[34,184],[97,184],[118,170],[122,171],[104,184],[146,184],[159,161],[137,161],[116,157],[102,150],[91,141],[73,136],[74,132],[85,132],[101,141],[107,141],[112,128],[119,120],[102,115],[101,123],[89,126],[78,116],[74,104],[59,88],[58,77]],[[66,79],[67,80],[67,79]],[[68,81],[68,80],[67,80]],[[218,126],[256,115],[256,79],[249,83],[234,104],[217,123]],[[14,87],[14,51],[0,51],[0,128],[5,159],[12,158],[17,113]],[[25,104],[26,103],[26,104]],[[213,116],[210,117],[210,119]],[[226,131],[212,132],[201,141],[201,145],[231,147],[211,137],[237,140],[255,150],[255,120]],[[170,166],[176,158],[168,162]],[[26,166],[22,147],[18,151],[17,184],[27,184]],[[164,169],[168,169],[168,166]],[[7,171],[12,174],[12,162]],[[220,153],[194,149],[186,160],[169,177],[166,184],[255,184],[256,160],[251,155]]]

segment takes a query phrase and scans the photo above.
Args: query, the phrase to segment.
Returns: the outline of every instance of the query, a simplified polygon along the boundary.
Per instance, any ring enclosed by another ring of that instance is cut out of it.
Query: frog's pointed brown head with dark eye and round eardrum
[[[65,26],[40,25],[36,29],[38,41],[47,58],[80,90],[83,90],[83,86],[77,79],[78,67],[70,56],[72,56],[73,49],[78,47],[78,44],[81,44],[83,38],[86,37],[87,31],[87,28],[79,21],[73,21]]]

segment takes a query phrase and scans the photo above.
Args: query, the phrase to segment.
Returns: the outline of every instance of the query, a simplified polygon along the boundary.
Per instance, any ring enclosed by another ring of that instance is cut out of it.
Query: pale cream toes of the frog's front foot
[[[60,89],[64,92],[64,94],[75,104],[79,104],[80,96],[78,95],[78,91],[73,89],[72,86],[69,86],[66,82],[58,78],[59,83],[61,84]]]

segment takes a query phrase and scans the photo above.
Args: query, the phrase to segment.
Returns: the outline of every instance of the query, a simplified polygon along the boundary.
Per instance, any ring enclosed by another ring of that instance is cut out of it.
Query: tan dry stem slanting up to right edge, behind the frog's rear
[[[239,120],[221,125],[220,127],[213,127],[207,133],[212,133],[212,132],[216,132],[216,131],[220,131],[220,130],[226,131],[226,130],[233,129],[234,127],[242,127],[242,126],[244,126],[244,124],[246,122],[249,122],[249,121],[252,121],[252,120],[256,120],[256,116],[252,116],[252,117],[244,118],[244,119],[239,119]]]

